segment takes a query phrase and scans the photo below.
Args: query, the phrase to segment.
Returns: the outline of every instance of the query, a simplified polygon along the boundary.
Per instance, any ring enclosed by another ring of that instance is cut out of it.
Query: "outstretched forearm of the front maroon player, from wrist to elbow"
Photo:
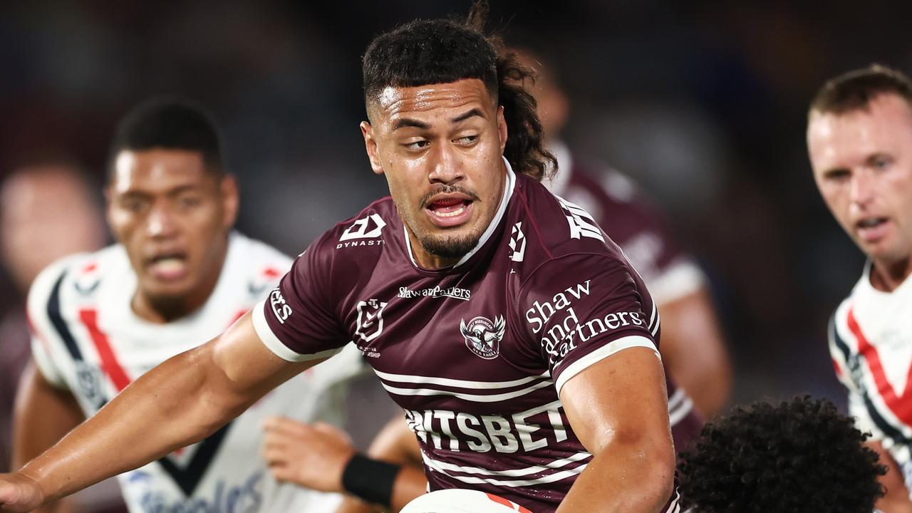
[[[47,501],[190,445],[246,407],[242,396],[215,392],[223,380],[207,346],[178,355],[131,384],[22,472],[36,479]]]

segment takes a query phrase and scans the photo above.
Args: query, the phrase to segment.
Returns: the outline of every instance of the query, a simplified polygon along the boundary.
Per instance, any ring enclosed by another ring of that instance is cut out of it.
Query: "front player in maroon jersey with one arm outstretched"
[[[319,237],[231,329],[0,478],[4,508],[212,433],[354,340],[420,439],[431,489],[491,491],[536,513],[679,510],[657,309],[591,216],[537,181],[534,109],[504,104],[523,68],[453,21],[392,34],[392,79],[371,89],[360,125],[391,197]]]

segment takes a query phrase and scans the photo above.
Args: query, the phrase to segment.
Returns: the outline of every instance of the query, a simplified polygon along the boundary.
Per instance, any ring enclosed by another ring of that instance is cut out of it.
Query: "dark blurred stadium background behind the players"
[[[468,4],[3,3],[0,178],[66,156],[101,183],[119,117],[179,93],[223,127],[242,183],[240,229],[297,254],[386,194],[358,131],[369,39]],[[643,184],[709,273],[734,401],[808,392],[845,403],[825,325],[863,257],[814,188],[805,109],[846,69],[912,69],[912,3],[492,4],[490,26],[544,53],[570,93],[565,139]],[[8,277],[0,290],[2,314],[21,298]]]

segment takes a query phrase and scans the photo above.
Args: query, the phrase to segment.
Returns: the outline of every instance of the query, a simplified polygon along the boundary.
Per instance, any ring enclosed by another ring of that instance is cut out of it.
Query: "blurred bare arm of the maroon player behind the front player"
[[[731,395],[731,362],[705,287],[658,306],[662,360],[700,413],[718,414]]]

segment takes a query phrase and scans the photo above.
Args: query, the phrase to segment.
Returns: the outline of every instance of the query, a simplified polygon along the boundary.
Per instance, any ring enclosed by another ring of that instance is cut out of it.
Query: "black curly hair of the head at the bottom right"
[[[886,467],[833,403],[753,403],[706,424],[681,454],[683,505],[698,513],[870,513]]]

